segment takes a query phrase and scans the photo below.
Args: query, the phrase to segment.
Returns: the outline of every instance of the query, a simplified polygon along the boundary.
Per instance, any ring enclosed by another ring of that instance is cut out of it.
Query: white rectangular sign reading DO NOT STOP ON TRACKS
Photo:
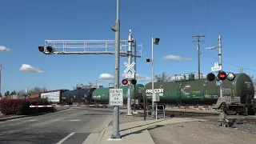
[[[122,89],[110,89],[110,106],[123,106]]]

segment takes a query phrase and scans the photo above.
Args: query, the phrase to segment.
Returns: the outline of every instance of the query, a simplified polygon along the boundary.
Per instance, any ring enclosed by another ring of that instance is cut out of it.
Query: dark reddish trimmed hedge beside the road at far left
[[[30,108],[31,105],[49,105],[49,102],[41,99],[4,99],[0,100],[0,110],[2,114],[38,114],[52,112],[53,107]]]

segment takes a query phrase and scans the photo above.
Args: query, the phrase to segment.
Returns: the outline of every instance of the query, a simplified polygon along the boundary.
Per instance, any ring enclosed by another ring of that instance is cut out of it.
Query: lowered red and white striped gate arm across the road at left
[[[42,106],[30,106],[30,107],[107,107],[107,104],[95,104],[95,105],[42,105]]]

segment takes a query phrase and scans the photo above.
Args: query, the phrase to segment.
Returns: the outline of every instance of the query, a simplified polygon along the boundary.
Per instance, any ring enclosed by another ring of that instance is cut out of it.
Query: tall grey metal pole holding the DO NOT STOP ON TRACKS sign
[[[120,68],[120,20],[119,20],[119,0],[117,0],[117,30],[115,31],[115,53],[114,53],[114,88],[119,88],[119,68]],[[121,138],[119,134],[119,106],[114,106],[113,110],[113,134],[111,138]]]

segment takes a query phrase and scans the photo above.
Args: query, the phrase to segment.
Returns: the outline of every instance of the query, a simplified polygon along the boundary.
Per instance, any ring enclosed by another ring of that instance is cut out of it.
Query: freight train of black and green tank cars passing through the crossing
[[[220,96],[220,86],[217,80],[213,82],[206,78],[195,79],[194,74],[183,75],[183,78],[175,78],[174,82],[154,82],[154,93],[159,96],[158,104],[163,106],[186,106],[186,105],[215,105]],[[152,83],[145,86],[136,84],[131,86],[133,103],[137,109],[143,107],[143,99],[146,104],[152,102]],[[135,89],[134,89],[135,87]],[[127,102],[128,86],[121,86],[124,95],[124,103]],[[108,104],[109,88],[90,88],[82,90],[66,90],[60,96],[61,104]],[[230,98],[228,110],[231,114],[250,114],[256,112],[256,101],[254,99],[254,85],[247,74],[235,74],[233,81],[222,82],[222,95]]]

